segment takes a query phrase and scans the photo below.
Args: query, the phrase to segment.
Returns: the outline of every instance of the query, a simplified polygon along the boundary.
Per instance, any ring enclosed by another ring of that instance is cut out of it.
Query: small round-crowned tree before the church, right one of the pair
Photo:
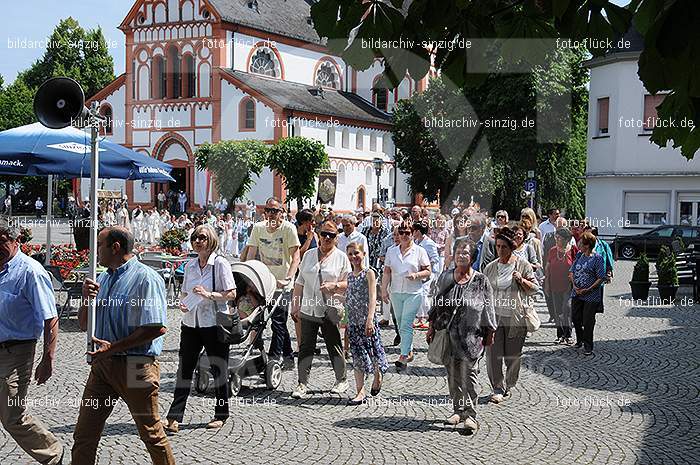
[[[284,176],[289,197],[302,208],[304,199],[316,191],[316,179],[330,162],[322,143],[305,137],[287,137],[272,146],[267,160],[270,169]]]

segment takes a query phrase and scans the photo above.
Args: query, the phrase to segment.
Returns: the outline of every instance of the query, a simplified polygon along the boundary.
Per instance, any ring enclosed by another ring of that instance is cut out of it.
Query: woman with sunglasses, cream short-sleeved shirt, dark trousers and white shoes
[[[338,328],[342,310],[338,310],[342,307],[341,297],[348,285],[350,261],[345,252],[336,247],[338,226],[334,221],[324,221],[318,236],[320,243],[304,254],[294,284],[292,319],[301,322],[297,363],[299,384],[292,392],[294,399],[306,397],[309,392],[309,375],[319,328],[335,372],[335,384],[331,393],[342,394],[348,389],[343,343]]]

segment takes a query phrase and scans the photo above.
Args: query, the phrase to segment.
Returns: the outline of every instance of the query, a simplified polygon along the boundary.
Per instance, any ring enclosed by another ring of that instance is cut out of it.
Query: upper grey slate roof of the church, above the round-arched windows
[[[300,39],[323,43],[311,24],[314,0],[209,0],[225,22]],[[248,6],[248,5],[257,5]]]

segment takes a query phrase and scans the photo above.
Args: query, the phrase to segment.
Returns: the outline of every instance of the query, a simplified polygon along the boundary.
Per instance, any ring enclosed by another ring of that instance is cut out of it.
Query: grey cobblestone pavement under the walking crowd
[[[418,333],[415,363],[401,374],[392,366],[381,395],[368,405],[345,405],[354,388],[342,398],[329,394],[333,376],[325,349],[313,365],[310,399],[290,399],[296,373],[285,372],[279,390],[255,388],[233,399],[233,421],[219,431],[204,428],[213,399],[193,395],[181,432],[171,438],[175,456],[183,464],[698,463],[700,306],[630,305],[631,268],[631,262],[618,263],[617,277],[606,289],[593,357],[554,345],[554,328],[545,325],[527,339],[519,385],[500,405],[485,402],[490,389],[481,362],[479,430],[472,436],[442,426],[450,413],[445,371],[428,362],[424,335]],[[546,320],[546,309],[538,310]],[[169,316],[161,413],[172,400],[177,361],[179,317],[176,310]],[[74,318],[61,328],[55,374],[47,386],[32,385],[30,400],[52,403],[32,412],[70,447],[77,418],[73,404],[88,366],[84,334],[76,332]],[[385,343],[393,336],[385,330]],[[393,361],[397,349],[388,352]],[[3,464],[29,463],[2,429],[0,457]],[[98,463],[148,462],[120,402],[105,428]]]

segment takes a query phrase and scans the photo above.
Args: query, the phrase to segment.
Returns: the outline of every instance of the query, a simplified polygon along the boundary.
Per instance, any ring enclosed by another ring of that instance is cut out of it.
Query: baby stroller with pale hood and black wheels
[[[229,395],[236,396],[241,390],[243,380],[257,377],[265,382],[268,389],[277,389],[282,381],[282,365],[278,360],[271,360],[263,346],[263,332],[272,313],[277,310],[282,298],[273,300],[277,280],[267,266],[257,260],[237,262],[231,265],[236,281],[236,299],[233,311],[241,311],[248,304],[250,314],[241,319],[243,335],[240,346],[242,354],[229,354],[228,387]],[[211,366],[205,351],[199,355],[194,372],[195,390],[204,393],[210,382],[215,379],[214,367]]]

